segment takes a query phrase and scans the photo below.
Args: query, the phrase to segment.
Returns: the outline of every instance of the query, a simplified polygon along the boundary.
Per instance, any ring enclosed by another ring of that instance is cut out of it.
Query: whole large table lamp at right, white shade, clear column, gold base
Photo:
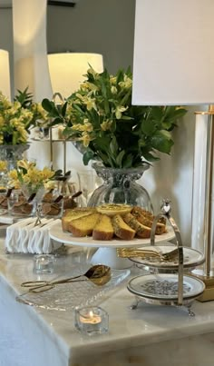
[[[136,0],[132,104],[214,103],[213,12],[213,0]],[[191,245],[202,245],[206,254],[201,301],[214,300],[213,115],[212,105],[196,113]]]

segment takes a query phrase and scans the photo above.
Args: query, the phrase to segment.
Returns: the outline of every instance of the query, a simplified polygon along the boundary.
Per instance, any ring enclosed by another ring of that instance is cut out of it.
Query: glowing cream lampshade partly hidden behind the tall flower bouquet
[[[54,93],[67,98],[79,89],[90,65],[97,73],[103,71],[102,54],[48,54],[49,72]]]

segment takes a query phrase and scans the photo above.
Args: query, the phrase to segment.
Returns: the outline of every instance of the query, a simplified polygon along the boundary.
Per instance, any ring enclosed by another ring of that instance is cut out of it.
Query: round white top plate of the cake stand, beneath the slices
[[[167,242],[173,239],[175,234],[172,228],[167,227],[166,233],[162,235],[155,235],[155,242]],[[80,245],[85,247],[105,247],[105,248],[118,248],[118,247],[130,247],[141,246],[143,244],[150,244],[150,239],[134,238],[130,241],[124,241],[122,239],[112,239],[111,241],[99,241],[92,239],[92,236],[86,236],[83,238],[74,237],[71,232],[63,232],[62,224],[55,223],[50,228],[50,237],[56,242],[63,242],[64,244]]]

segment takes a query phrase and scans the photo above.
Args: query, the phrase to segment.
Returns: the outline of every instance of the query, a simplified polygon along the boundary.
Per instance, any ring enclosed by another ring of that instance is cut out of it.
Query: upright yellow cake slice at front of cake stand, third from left
[[[113,233],[111,218],[106,214],[101,214],[92,231],[92,239],[103,241],[112,240]]]

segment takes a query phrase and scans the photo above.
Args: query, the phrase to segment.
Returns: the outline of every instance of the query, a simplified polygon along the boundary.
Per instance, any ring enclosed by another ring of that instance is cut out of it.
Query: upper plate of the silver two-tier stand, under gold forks
[[[170,252],[175,249],[176,246],[170,243],[160,243],[158,245],[142,245],[138,248],[140,249],[148,249],[156,251],[160,250],[161,252]],[[135,262],[141,264],[143,266],[151,267],[151,268],[159,268],[161,270],[177,270],[179,266],[178,260],[176,261],[160,261],[159,258],[141,258],[141,257],[132,257],[130,258],[131,262]],[[183,268],[184,269],[193,269],[205,261],[205,256],[202,252],[199,252],[195,249],[189,247],[183,247]]]

